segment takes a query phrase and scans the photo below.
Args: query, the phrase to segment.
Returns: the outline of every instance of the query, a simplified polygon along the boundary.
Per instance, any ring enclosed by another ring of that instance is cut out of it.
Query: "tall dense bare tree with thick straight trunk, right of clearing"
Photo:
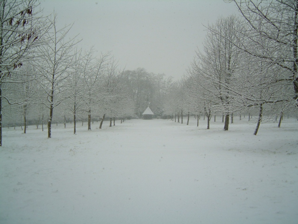
[[[203,109],[205,115],[211,116],[212,110],[225,114],[225,131],[229,128],[229,115],[235,110],[231,89],[240,62],[240,50],[222,36],[235,40],[238,29],[239,21],[235,16],[219,18],[215,24],[209,25],[204,53],[197,51],[188,70],[190,95],[201,107],[209,108]],[[195,108],[200,107],[196,105]]]

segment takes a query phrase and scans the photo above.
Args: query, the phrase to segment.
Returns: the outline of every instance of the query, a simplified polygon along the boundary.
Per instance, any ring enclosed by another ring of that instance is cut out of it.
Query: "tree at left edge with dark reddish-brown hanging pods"
[[[2,145],[2,103],[10,101],[2,91],[6,82],[21,80],[15,74],[42,35],[43,20],[37,16],[37,0],[0,1],[0,146]]]

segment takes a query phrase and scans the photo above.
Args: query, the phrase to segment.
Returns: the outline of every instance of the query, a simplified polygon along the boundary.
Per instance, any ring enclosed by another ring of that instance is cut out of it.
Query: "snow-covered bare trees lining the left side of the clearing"
[[[36,125],[53,120],[88,117],[127,117],[134,114],[124,71],[110,53],[77,48],[68,37],[71,26],[57,27],[57,16],[42,16],[36,0],[0,2],[0,146],[3,124],[15,125],[22,116]],[[2,114],[5,122],[2,121]],[[21,115],[21,116],[20,116]],[[100,123],[101,128],[102,122]]]

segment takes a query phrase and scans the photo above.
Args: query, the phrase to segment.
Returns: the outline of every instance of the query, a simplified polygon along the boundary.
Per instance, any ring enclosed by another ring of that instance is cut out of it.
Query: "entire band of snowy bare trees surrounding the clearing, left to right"
[[[141,118],[148,106],[156,118],[181,124],[196,116],[198,125],[206,116],[207,129],[212,116],[221,116],[228,130],[235,115],[254,114],[254,134],[264,119],[295,116],[298,1],[226,1],[241,16],[206,26],[203,49],[194,49],[177,81],[142,67],[120,68],[111,52],[78,48],[71,25],[58,27],[55,12],[42,16],[38,1],[1,1],[0,145],[3,127],[24,126],[26,133],[27,125],[43,131],[47,124],[50,138],[53,123],[73,122],[76,134],[77,121],[87,121],[87,130],[105,119],[111,126],[115,119]]]

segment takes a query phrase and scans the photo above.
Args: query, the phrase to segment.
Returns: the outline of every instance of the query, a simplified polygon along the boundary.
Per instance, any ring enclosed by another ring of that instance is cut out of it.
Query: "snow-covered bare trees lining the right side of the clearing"
[[[224,115],[258,110],[281,116],[298,106],[298,1],[231,0],[242,17],[220,17],[207,26],[203,50],[168,102],[168,114]]]

